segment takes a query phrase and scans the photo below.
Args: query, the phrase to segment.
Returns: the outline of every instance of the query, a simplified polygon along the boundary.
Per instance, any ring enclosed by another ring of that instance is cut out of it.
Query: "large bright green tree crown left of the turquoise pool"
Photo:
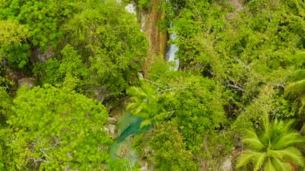
[[[111,140],[101,129],[107,112],[100,102],[46,84],[20,88],[12,109],[6,145],[17,169],[95,169],[109,160]]]

